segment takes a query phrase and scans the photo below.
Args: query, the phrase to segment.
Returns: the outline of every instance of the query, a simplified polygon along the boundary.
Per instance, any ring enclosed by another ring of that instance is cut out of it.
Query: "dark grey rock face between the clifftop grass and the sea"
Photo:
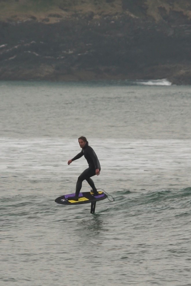
[[[125,13],[96,19],[93,12],[55,24],[1,22],[0,80],[168,78],[191,84],[191,22],[182,13],[167,17],[164,8],[160,15],[158,23]]]

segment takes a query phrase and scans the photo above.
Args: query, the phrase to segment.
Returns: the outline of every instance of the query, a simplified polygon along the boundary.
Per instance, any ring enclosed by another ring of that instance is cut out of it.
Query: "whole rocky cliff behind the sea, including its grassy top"
[[[0,0],[0,80],[191,84],[191,2]]]

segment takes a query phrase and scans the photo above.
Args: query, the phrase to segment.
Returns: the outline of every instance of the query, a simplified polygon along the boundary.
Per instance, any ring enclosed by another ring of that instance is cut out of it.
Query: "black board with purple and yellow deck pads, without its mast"
[[[74,197],[74,196],[75,194],[63,195],[55,199],[55,202],[62,205],[79,205],[79,204],[95,203],[97,201],[107,198],[107,195],[103,191],[101,191],[98,192],[98,195],[94,195],[92,192],[79,193],[78,201],[74,201],[71,199],[68,200],[68,197]]]

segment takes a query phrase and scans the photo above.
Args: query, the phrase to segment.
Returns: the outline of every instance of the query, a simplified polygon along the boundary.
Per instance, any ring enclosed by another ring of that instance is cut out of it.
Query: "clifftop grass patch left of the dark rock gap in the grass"
[[[42,21],[55,14],[49,21],[53,23],[76,12],[86,14],[92,11],[100,15],[104,12],[122,12],[121,0],[0,0],[1,21],[25,21],[31,16]]]

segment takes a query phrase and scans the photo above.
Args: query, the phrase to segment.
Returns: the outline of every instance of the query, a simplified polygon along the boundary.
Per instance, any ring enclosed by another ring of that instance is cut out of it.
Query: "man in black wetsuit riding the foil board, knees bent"
[[[93,177],[95,175],[99,176],[100,170],[101,170],[101,166],[97,158],[97,155],[94,152],[94,150],[88,145],[88,141],[86,137],[84,136],[79,137],[78,142],[82,150],[73,159],[68,161],[68,165],[70,165],[73,161],[81,158],[84,155],[84,157],[86,158],[88,162],[89,167],[86,170],[84,170],[84,172],[82,172],[81,175],[78,177],[78,180],[76,183],[75,197],[68,198],[68,199],[73,199],[75,201],[78,200],[79,192],[81,190],[82,182],[84,180],[86,180],[88,184],[91,186],[94,195],[98,194],[97,189],[94,185],[94,182],[90,177]]]

